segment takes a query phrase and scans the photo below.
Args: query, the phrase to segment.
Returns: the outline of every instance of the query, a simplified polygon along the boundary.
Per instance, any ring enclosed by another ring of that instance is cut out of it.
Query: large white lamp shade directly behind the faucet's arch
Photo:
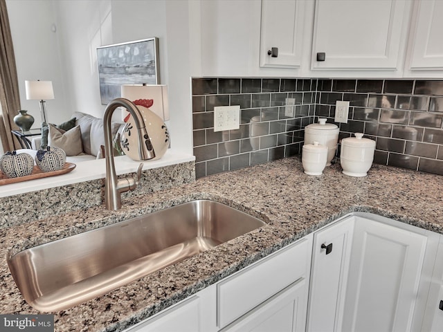
[[[168,105],[168,86],[161,84],[137,85],[124,84],[121,88],[122,98],[126,98],[131,102],[139,99],[152,99],[154,104],[150,110],[156,113],[157,116],[165,120],[169,120],[169,105]],[[126,116],[123,112],[123,118]]]

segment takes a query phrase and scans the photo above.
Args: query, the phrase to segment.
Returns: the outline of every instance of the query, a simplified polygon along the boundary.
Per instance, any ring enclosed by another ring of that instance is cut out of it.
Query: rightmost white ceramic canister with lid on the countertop
[[[363,133],[341,140],[340,164],[343,174],[367,176],[374,160],[375,141],[363,138]]]

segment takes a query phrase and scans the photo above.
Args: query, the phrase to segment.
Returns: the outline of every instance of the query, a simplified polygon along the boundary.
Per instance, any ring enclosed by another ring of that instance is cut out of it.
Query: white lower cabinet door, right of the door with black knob
[[[356,216],[341,331],[410,331],[427,237]]]

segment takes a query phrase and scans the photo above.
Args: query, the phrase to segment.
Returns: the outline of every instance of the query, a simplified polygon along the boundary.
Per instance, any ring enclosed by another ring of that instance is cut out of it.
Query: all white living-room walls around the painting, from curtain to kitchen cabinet
[[[169,89],[170,121],[167,124],[171,146],[192,154],[190,76],[192,68],[199,67],[196,65],[197,58],[193,56],[195,48],[192,47],[193,43],[199,43],[199,38],[195,38],[195,33],[197,35],[199,33],[199,24],[190,20],[190,16],[195,14],[193,11],[190,12],[189,8],[199,8],[199,1],[7,0],[7,2],[11,26],[15,30],[12,38],[15,47],[17,44],[19,80],[24,81],[22,77],[28,77],[34,71],[37,72],[35,75],[38,73],[48,75],[44,77],[45,80],[53,80],[55,100],[47,102],[50,122],[68,120],[74,111],[82,111],[97,117],[101,117],[104,113],[105,105],[100,103],[96,63],[98,46],[158,37],[161,83],[168,84]],[[28,9],[31,9],[30,12]],[[24,12],[28,13],[26,16],[29,19],[23,19]],[[53,22],[57,26],[57,32],[52,33],[49,29],[51,35],[44,30],[44,27],[51,28]],[[43,34],[39,33],[40,29],[37,28],[39,26],[43,27]],[[33,31],[33,37],[24,36],[29,31]],[[30,53],[30,39],[38,41],[35,50],[39,51],[35,53],[32,63],[26,61]],[[50,42],[52,44],[48,46]],[[46,61],[48,53],[51,55],[50,61]],[[57,75],[53,73],[56,69]],[[39,77],[35,77],[37,78]],[[66,95],[60,91],[66,91]],[[31,114],[37,112],[35,114],[39,119],[38,102],[26,101],[24,96],[23,87],[21,101],[24,105],[29,105]],[[55,107],[56,102],[62,106]],[[60,111],[55,113],[54,109]]]

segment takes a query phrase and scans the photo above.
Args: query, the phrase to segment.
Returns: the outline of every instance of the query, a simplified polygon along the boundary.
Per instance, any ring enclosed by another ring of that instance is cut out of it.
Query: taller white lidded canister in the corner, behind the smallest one
[[[331,165],[337,149],[338,132],[340,129],[333,123],[326,123],[325,118],[319,118],[318,123],[308,124],[305,127],[305,145],[319,142],[328,148],[326,166]]]

